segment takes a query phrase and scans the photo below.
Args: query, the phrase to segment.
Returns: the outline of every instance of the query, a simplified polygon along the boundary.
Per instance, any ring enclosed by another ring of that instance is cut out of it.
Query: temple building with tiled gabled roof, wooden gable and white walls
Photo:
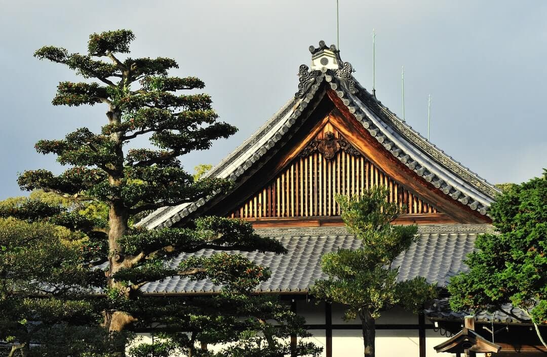
[[[308,293],[316,279],[326,277],[320,265],[324,253],[361,244],[346,231],[335,195],[385,186],[388,201],[403,209],[393,223],[417,224],[420,235],[395,259],[398,279],[422,276],[445,288],[450,277],[467,268],[462,261],[473,251],[477,235],[493,230],[488,207],[499,191],[360,85],[334,45],[320,42],[310,52],[311,66],[300,66],[296,94],[207,173],[230,179],[234,185],[228,194],[160,209],[140,224],[148,229],[180,226],[202,215],[251,222],[260,235],[279,239],[288,250],[286,255],[245,253],[272,273],[257,291],[292,302],[324,356],[358,355],[363,349],[360,321],[345,322],[343,306],[316,304]],[[185,257],[179,256],[173,266]],[[173,277],[143,289],[185,295],[213,294],[220,288],[206,280]],[[455,355],[452,350],[437,353],[434,347],[461,330],[463,315],[439,306],[427,313],[399,308],[384,312],[376,321],[376,355]],[[491,321],[485,317],[483,323],[490,326]],[[482,331],[479,325],[476,330]]]

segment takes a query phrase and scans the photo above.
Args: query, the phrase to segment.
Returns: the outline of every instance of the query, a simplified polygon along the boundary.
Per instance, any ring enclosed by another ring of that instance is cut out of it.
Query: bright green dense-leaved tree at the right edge
[[[504,311],[511,303],[538,325],[547,324],[547,170],[543,177],[504,185],[488,210],[496,234],[477,238],[478,251],[467,256],[469,271],[450,280],[454,311]],[[519,319],[518,316],[513,315]]]

